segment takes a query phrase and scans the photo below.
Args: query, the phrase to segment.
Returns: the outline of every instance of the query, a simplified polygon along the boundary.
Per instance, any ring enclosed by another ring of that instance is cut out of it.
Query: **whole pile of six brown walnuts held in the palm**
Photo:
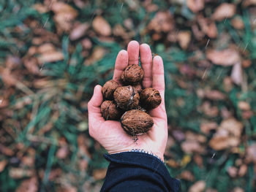
[[[127,134],[136,137],[145,134],[153,125],[148,111],[159,106],[162,99],[154,88],[142,88],[143,69],[138,65],[129,65],[121,74],[120,85],[109,80],[103,85],[105,101],[101,111],[105,120],[121,120],[121,126]]]

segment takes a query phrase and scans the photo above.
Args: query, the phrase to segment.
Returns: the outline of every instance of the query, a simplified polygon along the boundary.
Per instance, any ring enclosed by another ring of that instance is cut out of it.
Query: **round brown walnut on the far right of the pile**
[[[140,92],[140,104],[147,110],[152,110],[161,104],[159,91],[154,88],[145,88]]]

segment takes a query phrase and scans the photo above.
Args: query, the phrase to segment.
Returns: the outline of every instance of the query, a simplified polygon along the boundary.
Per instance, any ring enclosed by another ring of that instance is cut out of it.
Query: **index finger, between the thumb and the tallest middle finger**
[[[120,82],[120,77],[124,69],[128,65],[128,53],[126,50],[119,51],[116,57],[115,71],[113,75],[113,80]]]

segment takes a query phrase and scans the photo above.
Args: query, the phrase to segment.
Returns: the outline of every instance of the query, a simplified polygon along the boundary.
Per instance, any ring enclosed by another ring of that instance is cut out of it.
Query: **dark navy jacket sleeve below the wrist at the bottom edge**
[[[180,182],[170,177],[165,164],[154,155],[124,152],[104,156],[110,165],[101,192],[178,192],[180,189]]]

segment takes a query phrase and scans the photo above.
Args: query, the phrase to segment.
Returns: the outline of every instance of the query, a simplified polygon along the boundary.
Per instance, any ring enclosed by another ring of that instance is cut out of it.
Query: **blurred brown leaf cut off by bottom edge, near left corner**
[[[37,177],[31,177],[29,180],[23,180],[15,192],[37,192],[38,180]]]

